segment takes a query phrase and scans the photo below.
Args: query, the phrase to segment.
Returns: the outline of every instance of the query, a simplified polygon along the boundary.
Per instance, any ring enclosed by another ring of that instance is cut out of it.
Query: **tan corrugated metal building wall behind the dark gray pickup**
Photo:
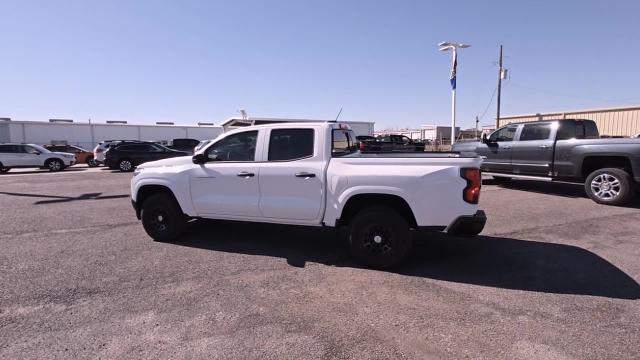
[[[513,122],[555,120],[563,118],[593,120],[598,125],[600,134],[605,136],[632,136],[640,133],[640,106],[504,116],[500,118],[500,126]]]

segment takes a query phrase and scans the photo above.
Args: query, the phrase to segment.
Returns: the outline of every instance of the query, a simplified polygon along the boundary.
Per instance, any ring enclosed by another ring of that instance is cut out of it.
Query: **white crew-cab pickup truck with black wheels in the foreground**
[[[329,226],[374,268],[400,262],[412,230],[475,236],[478,157],[362,154],[348,126],[286,123],[224,133],[193,157],[140,165],[131,200],[147,234],[179,237],[193,218]]]

